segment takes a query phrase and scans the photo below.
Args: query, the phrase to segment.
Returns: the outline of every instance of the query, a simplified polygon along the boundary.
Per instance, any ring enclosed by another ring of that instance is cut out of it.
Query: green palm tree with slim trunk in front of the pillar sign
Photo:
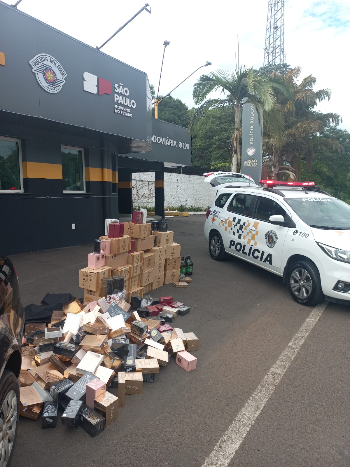
[[[259,121],[261,115],[264,125],[270,134],[278,141],[283,131],[283,117],[280,110],[274,107],[275,89],[288,95],[287,86],[276,79],[261,75],[252,68],[240,67],[235,71],[218,70],[198,78],[193,87],[193,99],[196,113],[189,123],[189,130],[194,133],[200,125],[202,114],[209,109],[231,106],[235,109],[235,132],[232,135],[231,171],[237,172],[239,167],[239,137],[241,133],[242,106],[254,104],[257,108]],[[223,98],[207,99],[210,92],[220,91]]]

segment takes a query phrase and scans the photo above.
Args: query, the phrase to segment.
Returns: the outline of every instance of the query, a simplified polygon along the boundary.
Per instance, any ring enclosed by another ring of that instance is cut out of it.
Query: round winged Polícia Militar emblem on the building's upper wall
[[[42,89],[51,93],[61,91],[67,73],[56,58],[48,54],[38,54],[29,61],[29,64]]]

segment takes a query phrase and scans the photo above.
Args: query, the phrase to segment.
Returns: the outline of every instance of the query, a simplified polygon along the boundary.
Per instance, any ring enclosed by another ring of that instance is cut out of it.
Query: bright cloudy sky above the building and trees
[[[15,0],[5,0],[14,4]],[[237,35],[240,63],[263,65],[268,0],[150,0],[143,11],[102,49],[126,64],[146,71],[157,90],[163,42],[170,41],[164,58],[160,94],[166,94],[206,61],[173,94],[193,106],[192,88],[203,72],[233,70]],[[19,10],[99,46],[145,4],[144,0],[22,0]],[[57,8],[58,7],[58,8]],[[287,63],[301,66],[301,78],[313,74],[317,89],[329,88],[330,101],[317,107],[343,117],[350,130],[348,90],[341,73],[349,70],[349,0],[285,0]],[[49,53],[49,51],[48,51]],[[345,96],[345,97],[344,97]]]

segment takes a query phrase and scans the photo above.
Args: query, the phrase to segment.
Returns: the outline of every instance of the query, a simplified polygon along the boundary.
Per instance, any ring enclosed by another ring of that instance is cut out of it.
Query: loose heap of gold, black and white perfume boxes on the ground
[[[103,297],[91,306],[76,298],[54,311],[48,325],[26,325],[21,416],[37,420],[41,414],[42,428],[79,425],[94,437],[118,418],[126,396],[141,395],[143,383],[154,382],[172,356],[186,371],[196,368],[190,352],[198,349],[198,338],[175,327],[189,307],[173,297],[159,297],[147,308],[139,296],[131,302],[109,305]]]

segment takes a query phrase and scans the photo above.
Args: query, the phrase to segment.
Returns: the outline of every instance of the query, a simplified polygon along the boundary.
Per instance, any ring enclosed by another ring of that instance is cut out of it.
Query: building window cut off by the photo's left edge
[[[0,193],[23,193],[21,140],[0,136]]]

